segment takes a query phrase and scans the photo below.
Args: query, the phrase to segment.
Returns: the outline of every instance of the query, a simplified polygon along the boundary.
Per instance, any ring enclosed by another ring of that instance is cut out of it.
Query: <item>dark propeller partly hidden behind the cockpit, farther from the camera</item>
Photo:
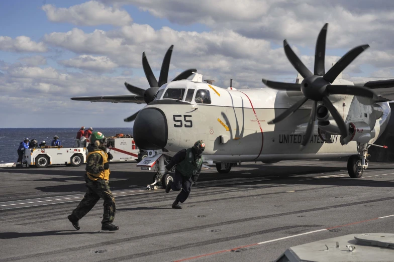
[[[161,69],[160,69],[160,76],[159,76],[159,81],[157,81],[155,75],[152,72],[152,69],[150,68],[148,59],[146,58],[145,52],[142,53],[142,68],[144,69],[144,73],[146,76],[146,79],[148,79],[149,83],[149,88],[148,89],[143,89],[137,86],[134,86],[132,84],[129,84],[125,82],[125,86],[127,90],[132,92],[133,94],[142,96],[144,98],[145,103],[149,104],[154,98],[159,90],[160,86],[168,82],[168,70],[170,67],[170,61],[171,61],[171,54],[172,54],[172,49],[174,48],[174,45],[171,45],[170,48],[168,48],[167,52],[164,55],[163,62],[161,64]],[[197,72],[197,69],[187,69],[177,75],[172,81],[178,81],[182,79],[187,79],[190,75],[192,75],[193,72]],[[140,110],[139,110],[140,111]],[[135,118],[137,117],[138,112],[134,113],[133,115],[123,119],[125,122],[131,122],[134,121]]]

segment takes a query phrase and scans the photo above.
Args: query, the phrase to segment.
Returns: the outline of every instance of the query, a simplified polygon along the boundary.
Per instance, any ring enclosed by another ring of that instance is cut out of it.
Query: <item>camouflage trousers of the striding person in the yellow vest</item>
[[[102,224],[111,224],[115,218],[115,198],[110,190],[109,180],[99,179],[90,180],[85,174],[86,194],[79,205],[72,211],[78,219],[81,219],[89,212],[93,206],[100,200],[104,199],[104,214]]]

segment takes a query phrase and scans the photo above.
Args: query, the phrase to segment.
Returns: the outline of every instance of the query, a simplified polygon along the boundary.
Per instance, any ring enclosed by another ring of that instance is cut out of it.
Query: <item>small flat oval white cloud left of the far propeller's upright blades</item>
[[[106,56],[81,55],[69,60],[61,60],[60,64],[66,67],[75,67],[95,72],[113,71],[118,65]]]

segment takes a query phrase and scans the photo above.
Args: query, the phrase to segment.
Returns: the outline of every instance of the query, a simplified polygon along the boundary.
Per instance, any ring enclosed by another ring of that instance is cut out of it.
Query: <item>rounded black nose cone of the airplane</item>
[[[158,150],[167,144],[167,131],[167,119],[163,111],[158,108],[145,108],[134,121],[133,137],[139,148]]]

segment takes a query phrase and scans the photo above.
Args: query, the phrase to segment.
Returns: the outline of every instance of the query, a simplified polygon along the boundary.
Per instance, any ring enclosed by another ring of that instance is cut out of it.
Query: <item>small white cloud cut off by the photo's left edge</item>
[[[34,42],[27,36],[19,36],[15,39],[0,36],[0,50],[9,52],[46,52],[48,49],[42,42]]]

